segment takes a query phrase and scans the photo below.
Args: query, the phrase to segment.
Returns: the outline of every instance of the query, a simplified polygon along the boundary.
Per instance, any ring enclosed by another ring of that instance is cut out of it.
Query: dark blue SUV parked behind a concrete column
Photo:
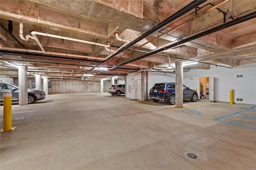
[[[183,85],[183,99],[197,101],[197,92]],[[156,83],[150,89],[149,98],[154,102],[168,101],[170,105],[175,105],[175,83]]]

